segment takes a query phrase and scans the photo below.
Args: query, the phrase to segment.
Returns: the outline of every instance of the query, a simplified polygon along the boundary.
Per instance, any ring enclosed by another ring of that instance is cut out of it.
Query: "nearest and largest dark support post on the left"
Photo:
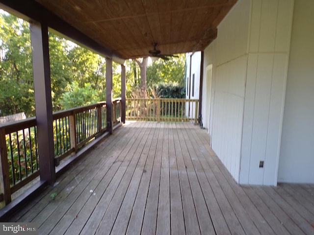
[[[47,24],[31,23],[30,37],[40,162],[40,179],[55,182],[52,97]]]

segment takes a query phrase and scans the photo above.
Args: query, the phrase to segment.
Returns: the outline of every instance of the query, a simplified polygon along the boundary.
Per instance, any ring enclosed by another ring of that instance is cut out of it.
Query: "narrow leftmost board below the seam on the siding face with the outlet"
[[[249,183],[258,55],[248,56],[241,148],[240,184]]]

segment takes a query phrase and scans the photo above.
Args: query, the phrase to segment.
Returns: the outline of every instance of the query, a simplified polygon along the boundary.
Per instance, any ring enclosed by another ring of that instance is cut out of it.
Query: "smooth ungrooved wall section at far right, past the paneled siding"
[[[295,0],[279,182],[314,184],[313,12],[313,0]]]

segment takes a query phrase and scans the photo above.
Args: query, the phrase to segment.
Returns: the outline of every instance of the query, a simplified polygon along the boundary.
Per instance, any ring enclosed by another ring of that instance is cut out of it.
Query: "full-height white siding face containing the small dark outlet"
[[[251,7],[240,183],[276,185],[293,0]]]

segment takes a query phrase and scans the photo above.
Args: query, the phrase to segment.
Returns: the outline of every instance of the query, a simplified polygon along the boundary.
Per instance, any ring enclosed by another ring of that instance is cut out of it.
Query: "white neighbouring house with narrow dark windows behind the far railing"
[[[201,51],[186,53],[186,99],[199,99],[200,97],[200,76],[201,76]],[[188,115],[190,112],[190,115]],[[188,117],[195,117],[195,106],[185,104],[185,113]]]

